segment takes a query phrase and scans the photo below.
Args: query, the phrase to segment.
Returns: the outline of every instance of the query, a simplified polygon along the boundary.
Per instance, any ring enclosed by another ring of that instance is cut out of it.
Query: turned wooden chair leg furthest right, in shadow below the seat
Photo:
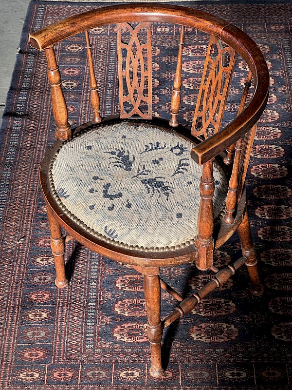
[[[247,265],[248,273],[251,279],[251,293],[253,295],[259,296],[264,292],[264,286],[261,284],[258,275],[256,251],[252,240],[247,211],[245,212],[243,221],[239,225],[237,232],[241,241],[242,255],[246,258],[245,264]]]

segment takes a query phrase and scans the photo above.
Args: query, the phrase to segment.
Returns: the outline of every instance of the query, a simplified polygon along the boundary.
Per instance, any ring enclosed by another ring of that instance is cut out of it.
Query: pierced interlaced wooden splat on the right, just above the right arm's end
[[[231,47],[223,47],[215,36],[211,36],[201,79],[191,134],[206,138],[217,133],[223,119],[236,60]]]

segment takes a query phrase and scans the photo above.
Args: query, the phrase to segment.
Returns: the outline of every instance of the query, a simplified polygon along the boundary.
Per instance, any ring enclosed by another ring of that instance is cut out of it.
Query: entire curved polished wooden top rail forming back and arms
[[[266,61],[256,43],[242,30],[225,20],[192,8],[157,3],[120,4],[84,12],[45,27],[30,35],[30,44],[38,50],[43,50],[85,29],[137,20],[158,22],[163,20],[197,28],[219,37],[236,50],[247,62],[253,74],[255,94],[241,115],[192,149],[192,158],[201,165],[222,150],[226,150],[248,132],[261,116],[268,100],[270,79]]]

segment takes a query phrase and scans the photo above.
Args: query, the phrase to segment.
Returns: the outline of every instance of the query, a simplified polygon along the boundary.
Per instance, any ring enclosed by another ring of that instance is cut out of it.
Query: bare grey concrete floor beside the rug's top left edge
[[[1,0],[0,13],[0,118],[14,69],[29,0]]]

